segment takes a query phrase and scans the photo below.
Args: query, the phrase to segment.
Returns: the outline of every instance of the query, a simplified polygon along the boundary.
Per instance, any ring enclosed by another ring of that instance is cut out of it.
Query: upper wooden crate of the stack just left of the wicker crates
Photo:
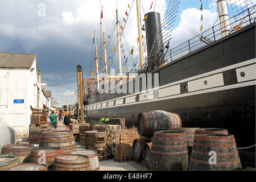
[[[106,131],[86,131],[85,143],[93,147],[106,146],[107,133]]]

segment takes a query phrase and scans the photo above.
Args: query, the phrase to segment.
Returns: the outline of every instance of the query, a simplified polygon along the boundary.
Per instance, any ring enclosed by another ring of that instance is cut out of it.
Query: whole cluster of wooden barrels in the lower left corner
[[[2,147],[0,170],[6,171],[91,171],[99,170],[97,151],[78,153],[72,131],[44,131],[39,147],[7,144]]]

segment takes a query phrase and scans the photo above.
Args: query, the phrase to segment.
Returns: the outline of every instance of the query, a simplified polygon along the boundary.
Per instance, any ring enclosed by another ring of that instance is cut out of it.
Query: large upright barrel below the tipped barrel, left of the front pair
[[[151,170],[187,170],[188,140],[184,131],[155,131],[150,150]]]

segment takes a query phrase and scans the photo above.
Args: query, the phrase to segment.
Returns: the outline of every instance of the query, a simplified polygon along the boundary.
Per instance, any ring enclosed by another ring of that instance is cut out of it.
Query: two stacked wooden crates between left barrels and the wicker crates
[[[108,159],[106,140],[106,131],[85,131],[86,149],[97,151],[99,160]]]

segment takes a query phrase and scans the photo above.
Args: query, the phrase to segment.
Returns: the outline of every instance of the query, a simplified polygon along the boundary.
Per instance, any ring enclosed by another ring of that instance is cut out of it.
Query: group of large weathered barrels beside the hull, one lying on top
[[[134,159],[151,170],[242,169],[234,135],[219,128],[181,127],[179,115],[155,110],[138,117]]]

